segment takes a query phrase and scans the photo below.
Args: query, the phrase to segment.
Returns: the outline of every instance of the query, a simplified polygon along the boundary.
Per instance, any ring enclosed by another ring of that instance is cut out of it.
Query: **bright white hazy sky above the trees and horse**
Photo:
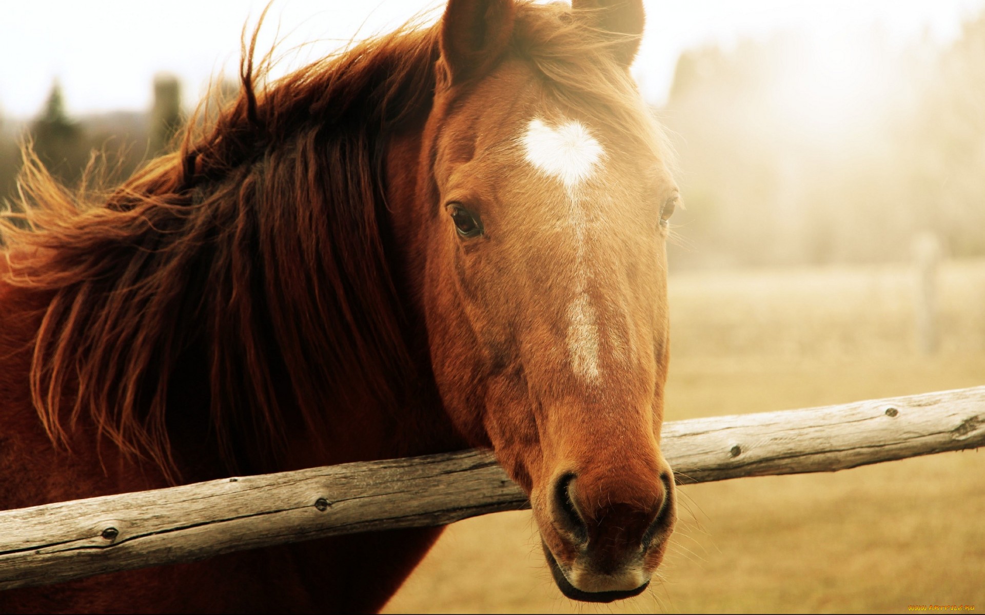
[[[35,114],[58,79],[71,113],[150,105],[151,81],[179,76],[186,103],[224,67],[234,72],[239,34],[263,0],[0,0],[0,113]],[[777,31],[844,39],[876,29],[901,48],[922,36],[947,42],[985,0],[647,0],[647,26],[634,72],[644,93],[661,102],[681,51],[731,46]],[[428,7],[428,0],[276,0],[261,43],[280,23],[290,49],[284,70],[336,48],[341,41],[387,31]],[[430,15],[436,17],[439,12]],[[822,45],[823,46],[823,45]]]

